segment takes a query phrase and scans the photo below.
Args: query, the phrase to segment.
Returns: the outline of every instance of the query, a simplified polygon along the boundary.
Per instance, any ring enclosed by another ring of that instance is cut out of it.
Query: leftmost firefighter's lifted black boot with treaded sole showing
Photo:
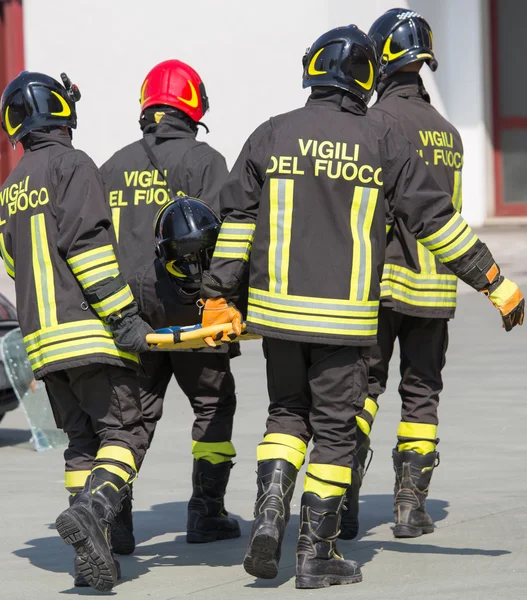
[[[105,469],[94,471],[84,490],[55,522],[60,537],[77,554],[77,576],[82,575],[100,592],[109,592],[119,577],[108,544],[110,524],[121,509],[121,493],[115,481],[122,483]]]

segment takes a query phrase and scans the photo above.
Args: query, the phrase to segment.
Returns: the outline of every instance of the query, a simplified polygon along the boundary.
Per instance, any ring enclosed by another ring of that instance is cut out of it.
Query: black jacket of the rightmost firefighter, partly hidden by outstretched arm
[[[434,179],[461,212],[463,144],[461,136],[430,104],[417,73],[396,73],[381,83],[369,115],[404,136],[425,160]],[[388,233],[381,302],[418,317],[452,318],[457,278],[394,219]]]

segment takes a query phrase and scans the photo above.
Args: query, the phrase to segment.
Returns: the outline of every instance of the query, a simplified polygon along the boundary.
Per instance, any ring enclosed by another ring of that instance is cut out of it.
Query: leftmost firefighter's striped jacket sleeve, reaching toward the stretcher
[[[133,302],[119,270],[101,175],[88,157],[56,171],[58,249],[101,319]]]

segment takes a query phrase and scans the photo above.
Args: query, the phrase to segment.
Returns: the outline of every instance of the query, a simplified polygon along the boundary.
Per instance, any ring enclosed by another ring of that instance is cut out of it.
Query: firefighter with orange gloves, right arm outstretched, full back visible
[[[360,581],[335,541],[351,482],[356,416],[377,335],[386,208],[461,279],[523,320],[518,287],[454,209],[410,144],[367,115],[377,74],[355,26],[320,37],[304,57],[307,105],[246,142],[220,195],[223,221],[202,286],[204,326],[232,321],[250,264],[248,330],[264,336],[269,418],[258,446],[247,572],[275,577],[290,500],[313,438],[297,547],[300,588]]]

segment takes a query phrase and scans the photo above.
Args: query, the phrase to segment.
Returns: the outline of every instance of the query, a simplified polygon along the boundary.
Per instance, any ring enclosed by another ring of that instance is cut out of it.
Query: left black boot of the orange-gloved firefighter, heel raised
[[[258,463],[258,492],[254,523],[243,568],[253,577],[274,579],[284,532],[291,514],[290,504],[298,470],[287,460],[264,460]]]

